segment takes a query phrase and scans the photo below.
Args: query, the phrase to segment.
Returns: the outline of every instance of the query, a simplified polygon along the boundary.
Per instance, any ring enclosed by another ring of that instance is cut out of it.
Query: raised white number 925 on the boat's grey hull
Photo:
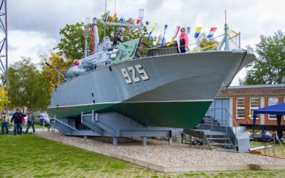
[[[150,77],[145,72],[145,69],[142,68],[140,64],[135,65],[135,67],[130,66],[128,68],[120,69],[125,77],[125,83],[137,83],[140,80],[148,80]]]

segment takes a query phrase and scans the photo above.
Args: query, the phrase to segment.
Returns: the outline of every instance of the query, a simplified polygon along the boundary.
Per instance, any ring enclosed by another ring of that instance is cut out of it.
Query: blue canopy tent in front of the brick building
[[[281,116],[285,115],[285,103],[279,103],[277,105],[271,105],[265,108],[261,108],[259,110],[254,110],[254,122],[253,125],[257,122],[258,114],[269,114],[277,116],[277,125],[281,125]],[[254,132],[254,130],[253,130]],[[282,131],[278,131],[277,135],[279,138],[282,137]]]

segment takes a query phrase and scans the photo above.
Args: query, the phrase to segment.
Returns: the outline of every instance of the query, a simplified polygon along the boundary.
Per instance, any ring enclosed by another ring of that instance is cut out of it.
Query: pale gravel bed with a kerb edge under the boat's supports
[[[264,157],[248,153],[220,152],[197,149],[182,143],[147,140],[147,146],[142,147],[140,138],[118,138],[118,146],[113,147],[111,137],[70,137],[59,132],[36,132],[36,135],[56,138],[67,142],[108,150],[120,155],[141,159],[165,166],[178,165],[219,165],[219,164],[285,164],[285,159]]]

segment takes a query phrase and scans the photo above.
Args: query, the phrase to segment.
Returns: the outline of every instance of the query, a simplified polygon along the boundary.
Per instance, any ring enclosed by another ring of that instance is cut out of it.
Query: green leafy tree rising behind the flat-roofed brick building
[[[258,57],[247,68],[247,76],[242,84],[285,83],[285,35],[281,31],[274,36],[260,36],[256,53]]]

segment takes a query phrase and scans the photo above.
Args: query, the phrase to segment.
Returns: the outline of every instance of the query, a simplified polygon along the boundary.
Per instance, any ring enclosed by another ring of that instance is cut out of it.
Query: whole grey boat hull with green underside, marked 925
[[[195,127],[221,85],[229,85],[254,58],[242,51],[214,51],[116,63],[56,88],[48,114],[63,118],[115,111],[142,125]]]

